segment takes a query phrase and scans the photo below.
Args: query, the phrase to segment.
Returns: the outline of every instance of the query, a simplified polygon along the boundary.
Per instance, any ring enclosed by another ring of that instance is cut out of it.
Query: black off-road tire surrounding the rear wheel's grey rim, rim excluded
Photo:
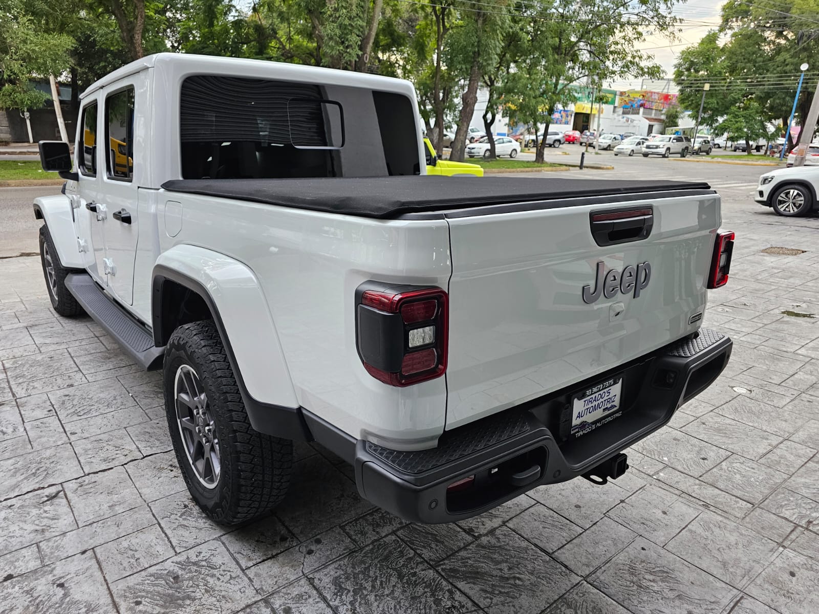
[[[188,459],[177,419],[174,381],[187,364],[200,378],[219,439],[220,471],[215,486],[201,484]],[[274,508],[287,493],[293,463],[290,440],[251,427],[236,377],[215,324],[206,320],[177,328],[165,348],[165,413],[176,460],[188,492],[208,517],[235,525]]]

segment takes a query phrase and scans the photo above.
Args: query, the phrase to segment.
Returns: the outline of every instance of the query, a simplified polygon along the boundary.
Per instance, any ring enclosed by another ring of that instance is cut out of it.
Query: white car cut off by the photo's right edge
[[[759,178],[754,201],[771,207],[777,215],[795,218],[817,209],[819,168],[816,163],[768,171]]]

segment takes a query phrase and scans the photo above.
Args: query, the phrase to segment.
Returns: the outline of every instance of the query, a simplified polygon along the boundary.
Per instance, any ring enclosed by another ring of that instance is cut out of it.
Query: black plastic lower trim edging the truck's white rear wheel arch
[[[219,336],[222,337],[224,350],[228,354],[230,366],[233,368],[233,374],[236,376],[236,382],[239,386],[239,392],[242,395],[242,401],[245,404],[247,417],[251,420],[251,426],[266,435],[282,437],[293,441],[312,441],[313,436],[310,434],[310,429],[307,427],[301,407],[285,407],[284,405],[276,405],[272,403],[265,403],[254,399],[250,392],[247,391],[247,386],[242,378],[242,372],[239,371],[236,355],[233,353],[233,346],[230,345],[230,339],[224,327],[219,309],[210,297],[201,282],[196,279],[191,279],[179,271],[169,269],[161,264],[157,264],[153,269],[153,288],[152,288],[152,318],[153,318],[153,334],[154,343],[165,345],[167,339],[173,331],[165,331],[162,328],[162,287],[165,280],[176,282],[180,286],[194,291],[205,301],[210,315],[219,331]]]

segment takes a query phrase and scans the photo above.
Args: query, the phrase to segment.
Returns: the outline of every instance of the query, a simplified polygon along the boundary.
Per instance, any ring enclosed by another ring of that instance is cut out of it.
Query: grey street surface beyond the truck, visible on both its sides
[[[522,154],[522,157],[531,156]],[[557,150],[547,150],[546,160],[550,162],[577,162],[580,147],[566,146]],[[642,156],[613,156],[610,151],[602,151],[595,156],[594,152],[586,161],[595,164],[612,165],[613,170],[572,169],[559,173],[526,173],[522,178],[533,177],[571,177],[571,178],[612,178],[612,179],[646,179],[667,178],[681,181],[707,181],[723,197],[724,217],[729,218],[731,211],[747,211],[770,216],[771,210],[763,209],[752,200],[759,175],[772,167],[743,166],[731,164],[708,164],[676,158],[649,158]],[[509,174],[505,175],[509,177]],[[513,174],[518,176],[518,174]],[[57,194],[60,187],[3,187],[0,188],[0,257],[9,257],[26,252],[38,251],[37,230],[40,222],[34,219],[31,203],[36,196]]]

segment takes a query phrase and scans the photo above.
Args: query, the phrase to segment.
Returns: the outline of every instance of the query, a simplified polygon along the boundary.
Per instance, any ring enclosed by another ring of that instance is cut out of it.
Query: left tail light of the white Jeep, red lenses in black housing
[[[364,282],[355,291],[355,335],[361,362],[390,386],[409,386],[446,372],[446,291]]]

